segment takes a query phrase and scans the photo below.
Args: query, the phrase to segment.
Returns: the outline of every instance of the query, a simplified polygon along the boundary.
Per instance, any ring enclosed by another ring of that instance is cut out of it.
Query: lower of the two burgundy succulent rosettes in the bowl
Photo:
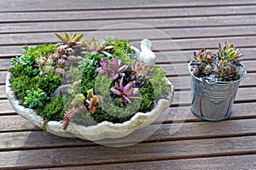
[[[120,82],[115,82],[115,88],[111,88],[111,92],[124,99],[126,105],[131,105],[131,99],[141,99],[137,97],[139,88],[133,88],[133,82],[123,85],[123,78]]]

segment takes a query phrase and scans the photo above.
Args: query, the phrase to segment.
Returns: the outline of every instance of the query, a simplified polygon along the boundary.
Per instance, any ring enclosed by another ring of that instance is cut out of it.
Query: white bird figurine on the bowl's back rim
[[[150,42],[148,39],[143,39],[141,42],[141,49],[139,56],[139,61],[143,61],[144,63],[147,63],[148,65],[154,66],[156,56],[153,51],[151,51],[152,42]]]

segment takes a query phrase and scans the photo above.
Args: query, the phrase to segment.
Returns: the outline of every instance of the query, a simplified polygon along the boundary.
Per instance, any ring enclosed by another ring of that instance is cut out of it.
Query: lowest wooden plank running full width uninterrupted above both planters
[[[55,31],[109,31],[136,30],[145,28],[196,28],[196,27],[218,27],[218,26],[255,26],[255,14],[230,15],[230,16],[200,16],[184,18],[160,18],[160,19],[126,19],[126,20],[78,20],[78,21],[54,21],[54,22],[28,22],[28,23],[6,23],[1,24],[1,33],[19,32],[55,32]],[[211,20],[211,22],[209,22]],[[227,22],[229,20],[229,22]],[[102,26],[104,22],[104,26]],[[236,23],[229,24],[229,23]],[[228,31],[224,31],[228,32]],[[185,32],[184,32],[185,33]],[[230,33],[230,32],[229,32]],[[197,33],[198,34],[198,33]],[[180,34],[182,35],[182,34]]]

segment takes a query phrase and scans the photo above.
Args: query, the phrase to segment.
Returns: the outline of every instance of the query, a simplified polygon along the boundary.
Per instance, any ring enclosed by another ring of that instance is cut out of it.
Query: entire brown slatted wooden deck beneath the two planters
[[[129,39],[137,47],[148,37],[157,64],[176,87],[164,123],[139,144],[113,148],[44,136],[6,99],[6,70],[10,59],[20,55],[21,46],[57,42],[56,31],[83,33],[86,38],[98,29],[99,37]],[[224,122],[203,122],[189,110],[187,63],[198,48],[214,50],[225,41],[241,48],[247,77],[241,82],[233,115]],[[256,169],[255,94],[255,0],[0,1],[0,168]],[[172,126],[180,128],[172,133]]]

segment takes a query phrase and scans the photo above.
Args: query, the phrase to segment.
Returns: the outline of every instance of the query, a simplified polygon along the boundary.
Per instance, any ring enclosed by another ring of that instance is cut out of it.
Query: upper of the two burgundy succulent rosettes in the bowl
[[[100,68],[97,68],[97,71],[102,74],[108,74],[108,77],[111,79],[116,79],[119,77],[119,74],[125,69],[127,69],[127,65],[121,65],[121,60],[118,59],[115,55],[112,60],[108,60],[107,58],[102,58]]]

